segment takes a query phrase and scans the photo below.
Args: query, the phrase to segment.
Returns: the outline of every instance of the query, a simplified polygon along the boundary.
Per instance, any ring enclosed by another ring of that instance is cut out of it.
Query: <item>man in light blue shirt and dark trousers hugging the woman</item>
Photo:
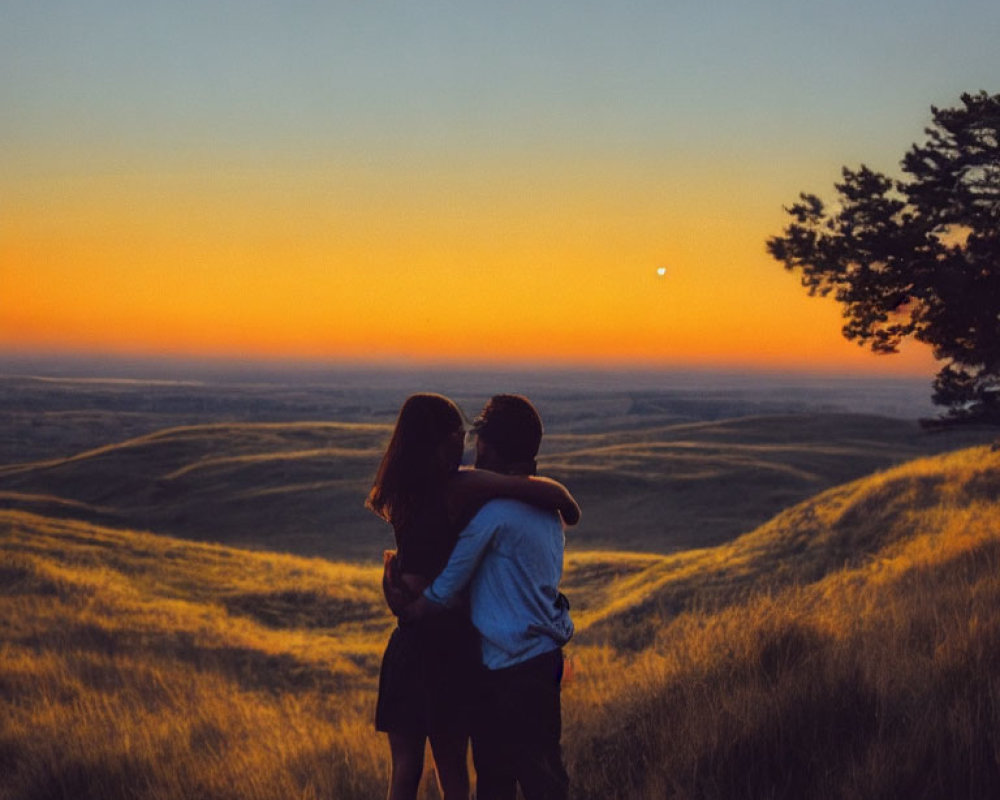
[[[497,395],[476,418],[476,466],[533,475],[542,439],[535,407]],[[482,705],[472,731],[478,800],[565,800],[560,683],[573,634],[559,593],[564,536],[558,514],[516,500],[486,503],[463,529],[447,566],[408,617],[462,602],[482,636]]]

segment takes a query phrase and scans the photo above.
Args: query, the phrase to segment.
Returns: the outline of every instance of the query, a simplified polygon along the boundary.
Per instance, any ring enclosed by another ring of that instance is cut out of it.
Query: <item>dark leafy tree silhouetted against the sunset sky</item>
[[[809,294],[833,293],[848,339],[931,345],[944,362],[934,402],[951,418],[1000,422],[1000,94],[961,100],[931,107],[903,179],[844,167],[837,205],[801,194],[767,249]]]

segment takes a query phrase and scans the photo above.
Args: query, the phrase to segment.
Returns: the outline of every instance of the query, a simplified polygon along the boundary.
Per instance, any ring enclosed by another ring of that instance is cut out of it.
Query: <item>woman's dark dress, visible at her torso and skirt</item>
[[[435,577],[448,563],[458,530],[444,499],[395,530],[401,572]],[[375,727],[389,733],[463,733],[471,726],[479,633],[464,606],[400,623],[379,674]]]

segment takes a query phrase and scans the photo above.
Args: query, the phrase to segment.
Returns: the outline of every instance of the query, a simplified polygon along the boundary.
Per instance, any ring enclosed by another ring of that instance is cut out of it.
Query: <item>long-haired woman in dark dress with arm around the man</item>
[[[394,612],[430,584],[448,561],[458,533],[495,497],[511,497],[563,514],[580,509],[565,487],[546,478],[460,470],[462,413],[438,394],[415,394],[400,409],[366,506],[389,522],[396,553],[387,554],[386,599]],[[466,765],[479,634],[465,609],[400,623],[379,675],[375,725],[389,736],[389,800],[413,800],[429,739],[444,800],[468,800]]]

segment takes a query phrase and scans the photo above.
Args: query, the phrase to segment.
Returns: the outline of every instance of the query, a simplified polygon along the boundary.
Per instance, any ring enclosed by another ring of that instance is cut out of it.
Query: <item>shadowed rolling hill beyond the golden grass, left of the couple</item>
[[[389,427],[217,423],[0,467],[0,503],[238,546],[377,558],[362,506]]]

